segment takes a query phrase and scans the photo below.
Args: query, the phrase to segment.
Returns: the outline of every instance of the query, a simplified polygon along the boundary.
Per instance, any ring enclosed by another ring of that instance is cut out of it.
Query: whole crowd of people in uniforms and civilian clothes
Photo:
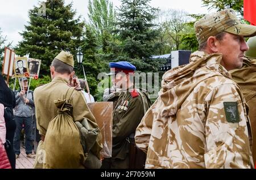
[[[61,51],[53,59],[52,82],[34,93],[27,92],[26,78],[14,93],[0,76],[0,148],[9,159],[0,156],[3,166],[15,168],[24,124],[34,168],[254,168],[256,26],[242,24],[229,8],[205,15],[195,32],[199,50],[190,63],[163,75],[154,104],[135,88],[134,65],[109,63],[113,86],[105,89],[104,101],[114,106],[108,158],[101,156],[102,134],[87,104],[94,98],[75,76],[72,54]],[[36,156],[34,107],[41,136]]]

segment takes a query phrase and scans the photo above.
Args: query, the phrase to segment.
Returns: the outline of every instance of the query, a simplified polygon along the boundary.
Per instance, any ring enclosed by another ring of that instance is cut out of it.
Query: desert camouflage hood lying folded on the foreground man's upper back
[[[188,65],[179,66],[163,75],[162,89],[159,92],[161,117],[175,115],[197,84],[212,76],[225,76],[229,72],[220,65],[222,54],[206,54],[196,51],[191,54]],[[200,68],[200,70],[199,70]],[[217,71],[216,71],[217,70]]]

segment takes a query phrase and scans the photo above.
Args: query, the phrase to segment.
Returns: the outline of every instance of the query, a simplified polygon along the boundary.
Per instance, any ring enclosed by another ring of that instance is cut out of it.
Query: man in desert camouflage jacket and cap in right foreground
[[[253,168],[245,98],[228,71],[242,67],[243,37],[256,27],[226,9],[205,15],[195,30],[200,51],[163,75],[135,142],[147,152],[146,168]]]

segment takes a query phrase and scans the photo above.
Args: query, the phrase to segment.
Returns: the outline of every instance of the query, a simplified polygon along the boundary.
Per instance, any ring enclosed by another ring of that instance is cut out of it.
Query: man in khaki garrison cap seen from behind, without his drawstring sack
[[[43,154],[41,149],[44,147],[44,137],[47,133],[47,127],[49,122],[55,115],[57,115],[57,107],[54,103],[55,100],[64,99],[69,87],[79,87],[78,80],[73,79],[73,55],[68,52],[61,51],[51,65],[51,78],[52,82],[42,85],[34,91],[34,102],[36,109],[36,126],[39,130],[39,134],[42,136],[42,140],[39,142],[36,153],[36,162],[34,168],[42,168]],[[96,122],[93,114],[86,105],[85,97],[82,94],[81,89],[73,92],[70,103],[73,106],[72,117],[74,121],[82,121],[87,118],[90,121]],[[81,146],[81,144],[77,144]],[[81,147],[82,148],[82,147]],[[81,158],[84,155],[81,155]],[[84,162],[81,159],[80,162]],[[73,168],[84,168],[81,164],[78,164]]]

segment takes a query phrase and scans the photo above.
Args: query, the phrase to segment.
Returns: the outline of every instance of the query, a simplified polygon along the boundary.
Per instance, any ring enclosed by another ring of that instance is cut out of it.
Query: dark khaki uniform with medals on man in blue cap
[[[139,93],[130,92],[118,95],[113,110],[112,157],[104,159],[104,169],[129,168],[130,143],[134,143],[134,133],[144,115],[144,108],[148,109],[150,105],[150,100],[144,93],[143,97]]]

